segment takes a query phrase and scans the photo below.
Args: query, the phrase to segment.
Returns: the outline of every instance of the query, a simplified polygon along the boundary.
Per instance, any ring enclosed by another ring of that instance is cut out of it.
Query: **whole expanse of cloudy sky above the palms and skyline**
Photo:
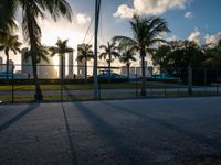
[[[94,15],[95,0],[67,0],[73,9],[73,22],[60,19],[56,23],[50,16],[41,20],[42,43],[54,45],[56,40],[69,38],[69,45],[76,48],[83,42]],[[221,38],[220,0],[102,0],[99,44],[105,44],[114,35],[133,36],[129,20],[133,12],[143,16],[158,15],[167,20],[171,33],[168,40],[192,40],[199,44],[217,42]],[[18,13],[18,20],[21,20]],[[19,24],[21,22],[19,21]],[[22,31],[15,32],[22,41]],[[86,37],[93,42],[93,25]]]

